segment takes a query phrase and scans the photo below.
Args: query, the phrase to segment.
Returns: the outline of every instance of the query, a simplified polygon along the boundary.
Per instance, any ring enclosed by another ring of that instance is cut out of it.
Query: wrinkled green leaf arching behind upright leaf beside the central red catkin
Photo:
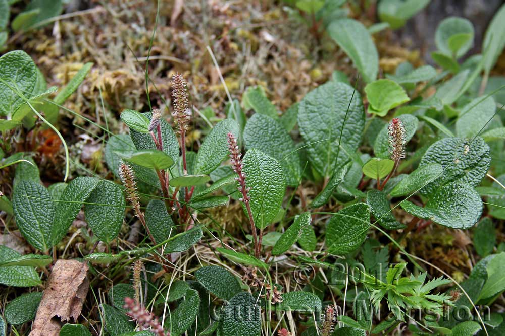
[[[297,186],[301,164],[296,147],[282,123],[256,113],[245,125],[243,138],[247,149],[256,148],[279,161],[289,186]]]

